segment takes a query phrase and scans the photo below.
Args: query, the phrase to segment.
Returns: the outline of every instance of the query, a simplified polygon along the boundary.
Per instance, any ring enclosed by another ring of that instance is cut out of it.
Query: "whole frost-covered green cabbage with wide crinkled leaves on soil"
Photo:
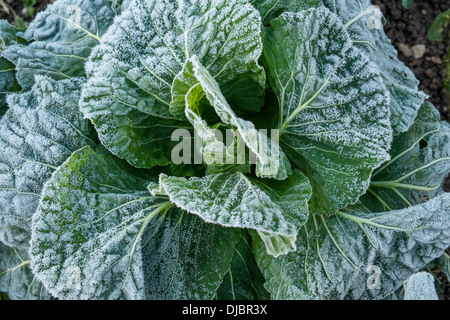
[[[368,0],[0,27],[11,299],[388,299],[450,244],[450,126]]]

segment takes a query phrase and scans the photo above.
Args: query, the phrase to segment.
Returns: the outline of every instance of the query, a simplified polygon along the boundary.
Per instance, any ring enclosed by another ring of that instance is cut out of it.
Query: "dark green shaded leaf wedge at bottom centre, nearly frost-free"
[[[242,231],[241,240],[231,260],[231,267],[217,290],[219,300],[268,300],[264,277],[256,265],[252,238]]]

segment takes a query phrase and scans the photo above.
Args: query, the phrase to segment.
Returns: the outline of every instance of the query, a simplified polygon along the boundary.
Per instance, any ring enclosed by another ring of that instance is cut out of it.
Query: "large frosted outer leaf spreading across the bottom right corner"
[[[450,243],[450,194],[407,209],[310,215],[297,251],[274,259],[254,239],[273,299],[383,299]]]

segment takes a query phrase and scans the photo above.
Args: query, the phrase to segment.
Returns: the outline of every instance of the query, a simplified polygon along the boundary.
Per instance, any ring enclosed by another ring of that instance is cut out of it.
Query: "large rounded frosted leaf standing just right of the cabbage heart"
[[[313,186],[311,209],[354,203],[389,159],[389,97],[376,65],[326,8],[284,13],[264,30],[281,146]]]

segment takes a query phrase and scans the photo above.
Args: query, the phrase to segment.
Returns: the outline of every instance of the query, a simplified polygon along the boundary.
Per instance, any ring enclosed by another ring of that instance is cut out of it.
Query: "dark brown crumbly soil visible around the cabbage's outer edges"
[[[36,0],[35,12],[44,10],[54,0]],[[399,51],[399,59],[403,61],[420,81],[419,88],[427,93],[436,108],[441,113],[442,120],[450,123],[450,93],[444,89],[446,77],[445,58],[449,49],[450,27],[445,30],[443,41],[430,41],[426,34],[434,18],[448,10],[448,0],[415,0],[410,9],[401,5],[401,0],[372,0],[380,7],[386,18],[385,32]],[[34,16],[26,16],[21,0],[0,0],[0,19],[11,23],[21,17],[25,22],[33,20]],[[411,48],[416,45],[425,45],[425,52],[421,58],[410,54]],[[401,50],[400,50],[401,49]],[[444,188],[450,191],[450,178]],[[450,254],[450,248],[447,250]],[[450,300],[450,283],[445,274],[438,269],[432,270],[441,283],[439,298]]]

